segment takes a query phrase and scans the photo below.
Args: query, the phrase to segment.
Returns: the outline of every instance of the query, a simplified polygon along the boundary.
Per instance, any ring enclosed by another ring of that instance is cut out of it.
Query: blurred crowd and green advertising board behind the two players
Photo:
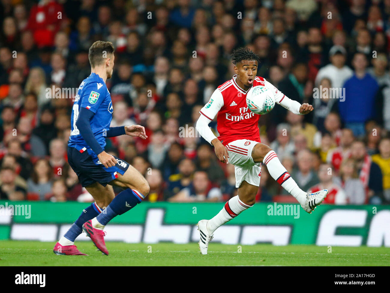
[[[0,15],[0,207],[31,212],[3,212],[0,239],[55,241],[92,201],[66,148],[88,49],[104,40],[115,46],[111,125],[149,136],[110,138],[106,150],[151,187],[150,203],[116,218],[107,240],[197,241],[192,225],[237,194],[234,166],[194,123],[234,74],[232,50],[248,46],[258,76],[314,106],[305,116],[276,106],[260,118],[261,141],[302,189],[330,193],[313,215],[272,217],[293,198],[262,166],[259,203],[215,239],[390,246],[389,0],[2,0]]]

